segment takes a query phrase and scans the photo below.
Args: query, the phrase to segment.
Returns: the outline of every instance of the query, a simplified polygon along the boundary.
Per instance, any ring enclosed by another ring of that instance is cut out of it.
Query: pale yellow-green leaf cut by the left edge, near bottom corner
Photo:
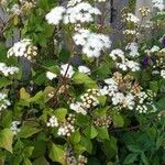
[[[0,147],[12,153],[13,133],[10,129],[0,132]]]

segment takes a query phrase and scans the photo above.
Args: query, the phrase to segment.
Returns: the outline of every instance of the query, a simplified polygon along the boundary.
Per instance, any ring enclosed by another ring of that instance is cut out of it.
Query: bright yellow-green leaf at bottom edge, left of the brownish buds
[[[48,156],[53,162],[65,163],[65,151],[59,145],[53,143]]]

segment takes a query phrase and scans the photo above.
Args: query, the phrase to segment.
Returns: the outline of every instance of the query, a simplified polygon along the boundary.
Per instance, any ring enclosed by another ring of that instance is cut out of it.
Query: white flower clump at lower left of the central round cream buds
[[[84,116],[87,114],[87,111],[84,108],[84,105],[81,102],[70,103],[70,109],[76,111],[77,113],[81,113]]]

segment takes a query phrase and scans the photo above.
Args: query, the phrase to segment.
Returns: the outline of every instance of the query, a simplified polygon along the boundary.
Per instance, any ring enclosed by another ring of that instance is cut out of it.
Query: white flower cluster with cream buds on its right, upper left
[[[37,55],[37,47],[33,46],[32,41],[29,38],[24,38],[14,45],[8,51],[8,57],[26,57],[29,61],[32,59],[33,56]]]

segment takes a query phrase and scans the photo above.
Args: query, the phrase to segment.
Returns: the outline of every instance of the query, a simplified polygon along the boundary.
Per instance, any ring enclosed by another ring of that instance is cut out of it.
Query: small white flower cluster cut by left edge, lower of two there
[[[3,92],[0,92],[0,111],[6,110],[11,102],[8,100],[8,96]]]

